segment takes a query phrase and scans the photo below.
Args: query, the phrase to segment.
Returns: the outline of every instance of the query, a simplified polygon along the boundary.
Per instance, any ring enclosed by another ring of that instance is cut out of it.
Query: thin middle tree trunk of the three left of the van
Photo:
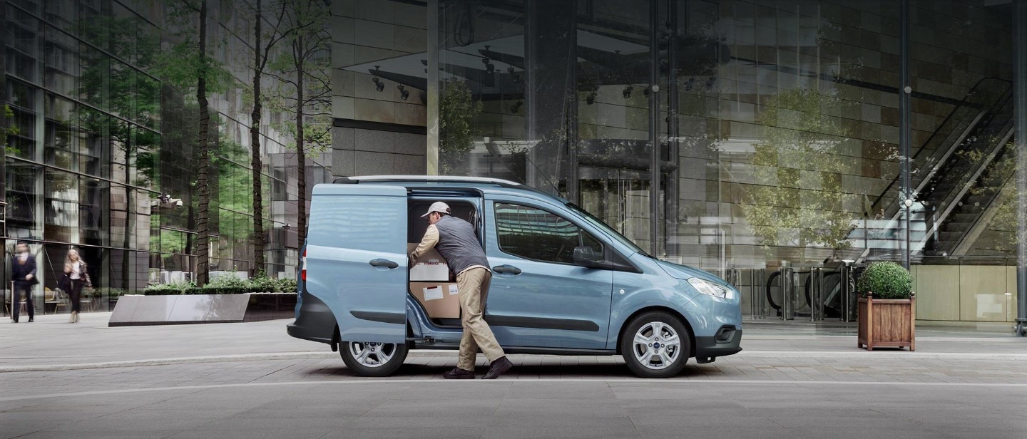
[[[250,124],[250,151],[251,151],[251,161],[250,166],[253,167],[253,184],[254,184],[254,268],[258,274],[264,273],[264,198],[263,198],[263,188],[261,183],[261,157],[260,157],[260,113],[261,113],[261,102],[260,102],[260,77],[261,71],[261,45],[260,45],[260,26],[261,26],[261,0],[257,0],[257,17],[254,21],[254,38],[256,42],[254,43],[254,111],[251,114],[251,124]]]

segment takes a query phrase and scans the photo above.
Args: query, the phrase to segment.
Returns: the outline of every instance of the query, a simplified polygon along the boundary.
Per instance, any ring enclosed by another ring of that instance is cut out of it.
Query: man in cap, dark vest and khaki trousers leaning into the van
[[[492,271],[485,250],[474,235],[474,226],[453,217],[448,204],[436,201],[421,217],[428,217],[428,230],[417,248],[410,253],[411,267],[417,257],[432,247],[446,258],[450,272],[456,274],[460,297],[460,354],[456,367],[443,373],[448,380],[473,380],[474,362],[481,349],[491,364],[484,380],[495,380],[509,370],[514,363],[506,358],[496,336],[486,323],[483,313],[489,294]]]

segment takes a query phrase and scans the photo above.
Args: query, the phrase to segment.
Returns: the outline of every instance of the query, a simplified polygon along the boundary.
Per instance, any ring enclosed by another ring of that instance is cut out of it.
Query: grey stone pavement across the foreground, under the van
[[[516,355],[498,381],[454,383],[451,351],[365,378],[288,320],[108,317],[0,321],[0,439],[1027,436],[1027,340],[998,332],[918,327],[916,352],[866,352],[844,327],[753,322],[745,351],[673,380],[614,356]]]

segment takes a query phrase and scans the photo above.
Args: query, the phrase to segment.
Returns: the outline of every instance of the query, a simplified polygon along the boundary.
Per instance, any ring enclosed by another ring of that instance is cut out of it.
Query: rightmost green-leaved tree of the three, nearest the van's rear
[[[295,138],[291,148],[296,151],[299,167],[296,233],[302,240],[307,235],[307,154],[319,154],[332,145],[331,13],[325,0],[288,3],[283,29],[289,33],[289,48],[271,66],[272,76],[280,84],[271,106],[296,115],[295,120],[283,121],[277,128]]]

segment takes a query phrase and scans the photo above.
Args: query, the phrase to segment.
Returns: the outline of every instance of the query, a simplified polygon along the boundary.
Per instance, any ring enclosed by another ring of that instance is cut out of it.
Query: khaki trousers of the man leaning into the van
[[[490,362],[503,357],[503,349],[496,342],[492,329],[483,317],[482,304],[489,295],[489,283],[492,273],[486,269],[476,268],[464,270],[456,276],[456,285],[460,291],[460,322],[463,324],[463,337],[460,338],[460,359],[457,367],[464,370],[474,370],[478,350]]]

